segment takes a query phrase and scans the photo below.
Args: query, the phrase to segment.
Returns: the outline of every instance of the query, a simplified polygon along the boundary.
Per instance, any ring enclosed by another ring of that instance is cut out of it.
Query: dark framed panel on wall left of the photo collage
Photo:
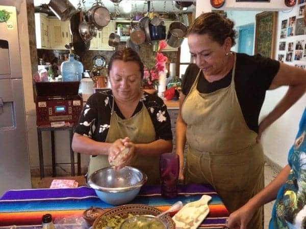
[[[274,58],[276,40],[277,12],[262,12],[256,14],[254,54]]]

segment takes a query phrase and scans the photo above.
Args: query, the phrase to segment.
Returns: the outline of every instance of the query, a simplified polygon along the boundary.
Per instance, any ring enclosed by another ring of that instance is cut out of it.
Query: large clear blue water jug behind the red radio
[[[83,64],[74,59],[74,54],[69,54],[69,60],[61,65],[63,81],[81,81],[83,74]]]

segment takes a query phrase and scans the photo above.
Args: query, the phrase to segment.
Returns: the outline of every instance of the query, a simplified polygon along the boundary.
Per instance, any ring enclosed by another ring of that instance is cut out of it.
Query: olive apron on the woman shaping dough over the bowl
[[[110,128],[106,137],[106,142],[114,142],[119,138],[130,137],[130,141],[137,143],[149,143],[156,140],[155,128],[150,115],[143,104],[142,109],[129,119],[121,119],[114,111],[114,99]],[[130,166],[141,169],[148,177],[146,184],[160,184],[159,176],[159,156],[136,155],[132,159]],[[108,162],[108,155],[90,156],[88,165],[88,176],[94,171],[111,166]]]

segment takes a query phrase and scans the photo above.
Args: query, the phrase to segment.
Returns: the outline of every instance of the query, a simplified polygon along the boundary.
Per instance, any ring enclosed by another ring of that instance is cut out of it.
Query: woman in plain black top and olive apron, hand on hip
[[[211,184],[230,213],[264,187],[262,132],[305,92],[304,70],[231,52],[233,28],[233,21],[212,12],[190,25],[188,45],[196,66],[191,64],[183,79],[176,122],[180,179]],[[288,92],[259,125],[266,91],[283,85],[289,85]],[[247,228],[262,227],[261,208]]]

